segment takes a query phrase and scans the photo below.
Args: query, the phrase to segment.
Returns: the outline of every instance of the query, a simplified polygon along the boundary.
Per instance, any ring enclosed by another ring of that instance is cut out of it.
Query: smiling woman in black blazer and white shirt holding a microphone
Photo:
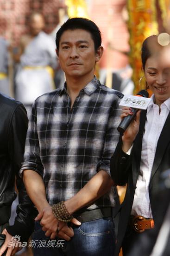
[[[115,184],[127,183],[115,256],[119,255],[120,247],[123,255],[127,255],[138,236],[157,225],[155,215],[161,207],[156,201],[159,176],[170,168],[170,43],[162,46],[158,36],[148,37],[143,42],[141,58],[152,100],[147,110],[138,111],[120,135],[111,158]],[[127,115],[132,115],[132,111],[125,107],[121,118]]]

